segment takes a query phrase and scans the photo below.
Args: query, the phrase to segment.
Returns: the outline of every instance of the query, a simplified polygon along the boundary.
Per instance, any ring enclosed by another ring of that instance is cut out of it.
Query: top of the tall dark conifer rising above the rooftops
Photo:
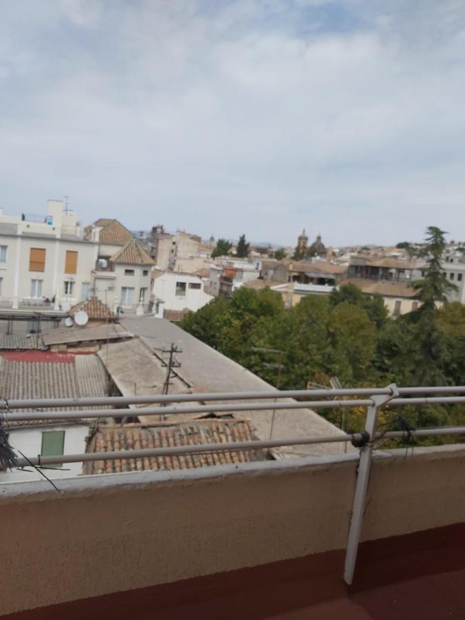
[[[436,302],[446,302],[448,291],[457,290],[457,287],[449,282],[442,271],[441,258],[446,249],[446,233],[436,226],[428,226],[426,229],[426,244],[419,256],[426,258],[428,267],[424,278],[413,282],[416,298],[423,302],[422,310],[434,310]]]

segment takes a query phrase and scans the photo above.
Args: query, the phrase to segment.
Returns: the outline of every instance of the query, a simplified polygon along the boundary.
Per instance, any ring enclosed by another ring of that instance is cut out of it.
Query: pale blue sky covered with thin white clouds
[[[465,0],[0,0],[0,207],[465,240]]]

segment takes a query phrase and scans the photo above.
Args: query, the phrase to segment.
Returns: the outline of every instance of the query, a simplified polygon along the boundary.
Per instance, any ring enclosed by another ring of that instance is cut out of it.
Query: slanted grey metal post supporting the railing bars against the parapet
[[[368,489],[371,457],[373,455],[373,444],[371,441],[375,437],[376,426],[378,424],[378,409],[391,399],[399,395],[395,383],[388,386],[391,395],[372,396],[373,404],[366,411],[365,431],[369,435],[369,442],[360,448],[360,461],[358,463],[358,476],[355,485],[355,495],[353,497],[353,508],[351,514],[351,525],[349,537],[347,539],[346,561],[344,567],[344,580],[351,585],[353,581],[353,571],[355,570],[355,560],[357,559],[358,545],[362,533],[363,514],[365,508],[366,490]]]

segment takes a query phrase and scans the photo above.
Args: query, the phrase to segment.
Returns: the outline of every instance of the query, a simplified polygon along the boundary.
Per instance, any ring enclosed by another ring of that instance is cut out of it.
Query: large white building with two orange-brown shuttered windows
[[[0,300],[17,309],[54,300],[67,309],[87,298],[98,244],[83,240],[74,211],[48,200],[46,216],[0,209]]]

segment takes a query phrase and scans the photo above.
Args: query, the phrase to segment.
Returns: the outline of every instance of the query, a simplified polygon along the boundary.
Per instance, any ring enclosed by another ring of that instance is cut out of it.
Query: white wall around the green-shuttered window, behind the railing
[[[89,426],[87,424],[54,424],[49,426],[10,428],[10,444],[12,448],[21,451],[25,456],[37,457],[41,453],[43,431],[65,431],[63,454],[85,452],[85,437],[89,433]],[[28,467],[28,470],[30,471],[0,471],[0,484],[2,482],[24,482],[43,479],[43,476],[33,467]],[[67,463],[63,465],[63,470],[45,470],[45,475],[49,478],[78,476],[81,473],[82,463]]]

